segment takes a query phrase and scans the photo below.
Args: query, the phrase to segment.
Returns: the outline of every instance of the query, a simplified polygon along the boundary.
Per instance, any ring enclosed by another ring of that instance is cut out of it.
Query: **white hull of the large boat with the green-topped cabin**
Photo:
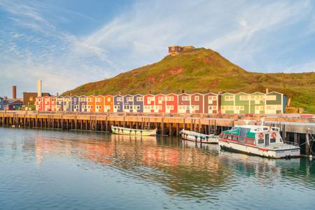
[[[224,150],[234,151],[237,153],[245,153],[248,155],[258,155],[265,158],[279,159],[300,157],[300,148],[272,150],[248,144],[240,144],[233,141],[219,141],[218,144]]]

